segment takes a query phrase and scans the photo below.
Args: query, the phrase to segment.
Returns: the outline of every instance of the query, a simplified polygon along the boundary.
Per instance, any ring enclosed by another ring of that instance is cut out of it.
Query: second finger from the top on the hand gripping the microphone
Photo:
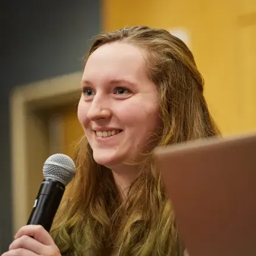
[[[9,250],[15,250],[18,248],[28,249],[29,251],[35,252],[35,254],[39,254],[44,251],[45,245],[36,241],[36,239],[30,238],[30,236],[21,236],[17,238],[11,243]]]

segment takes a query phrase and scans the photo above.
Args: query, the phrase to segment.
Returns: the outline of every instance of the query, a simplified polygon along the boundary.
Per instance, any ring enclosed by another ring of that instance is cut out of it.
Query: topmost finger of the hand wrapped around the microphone
[[[21,236],[33,236],[38,242],[43,243],[43,245],[54,245],[50,234],[40,225],[27,225],[21,227],[20,230],[14,236],[15,239]]]

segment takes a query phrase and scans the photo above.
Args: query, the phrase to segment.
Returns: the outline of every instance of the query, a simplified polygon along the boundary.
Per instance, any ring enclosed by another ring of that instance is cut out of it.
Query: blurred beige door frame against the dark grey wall
[[[13,202],[13,234],[27,223],[33,180],[49,155],[46,129],[40,110],[67,105],[77,100],[82,73],[66,74],[29,85],[18,86],[10,96],[11,127],[11,191]],[[35,149],[39,150],[35,150]],[[38,192],[37,191],[36,193]],[[35,199],[35,195],[32,195]]]

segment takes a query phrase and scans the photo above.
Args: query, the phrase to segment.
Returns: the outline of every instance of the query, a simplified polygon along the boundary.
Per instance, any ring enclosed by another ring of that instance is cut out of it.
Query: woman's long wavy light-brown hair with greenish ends
[[[84,64],[92,52],[111,42],[136,45],[145,57],[148,74],[158,88],[162,129],[157,146],[219,134],[203,95],[204,80],[182,40],[146,26],[103,32],[96,36]],[[125,201],[111,170],[93,160],[85,137],[75,162],[76,177],[68,185],[51,230],[62,255],[183,255],[152,152],[145,155]]]

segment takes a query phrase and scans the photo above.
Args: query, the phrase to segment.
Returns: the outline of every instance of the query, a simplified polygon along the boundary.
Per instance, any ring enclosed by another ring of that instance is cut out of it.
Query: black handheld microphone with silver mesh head
[[[44,179],[27,224],[42,225],[47,232],[51,230],[65,186],[71,182],[75,173],[74,162],[67,155],[51,155],[45,161],[43,164]]]

